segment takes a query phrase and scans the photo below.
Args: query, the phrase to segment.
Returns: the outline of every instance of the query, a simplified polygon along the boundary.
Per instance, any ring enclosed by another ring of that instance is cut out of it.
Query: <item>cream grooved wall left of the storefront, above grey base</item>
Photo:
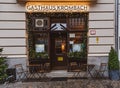
[[[0,47],[7,57],[26,57],[25,7],[17,0],[0,0]]]

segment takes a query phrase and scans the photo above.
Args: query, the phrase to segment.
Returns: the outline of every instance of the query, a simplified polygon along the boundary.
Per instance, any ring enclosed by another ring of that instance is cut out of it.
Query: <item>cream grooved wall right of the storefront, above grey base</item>
[[[108,56],[110,47],[115,45],[114,15],[115,0],[97,0],[90,6],[88,56]],[[91,35],[90,30],[96,34]]]

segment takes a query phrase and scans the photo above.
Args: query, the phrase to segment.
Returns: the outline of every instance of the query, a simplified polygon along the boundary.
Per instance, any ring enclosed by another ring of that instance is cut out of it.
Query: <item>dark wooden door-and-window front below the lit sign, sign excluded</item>
[[[42,60],[44,52],[51,69],[67,69],[68,54],[78,52],[78,60],[87,63],[88,13],[26,13],[26,17],[29,59]]]

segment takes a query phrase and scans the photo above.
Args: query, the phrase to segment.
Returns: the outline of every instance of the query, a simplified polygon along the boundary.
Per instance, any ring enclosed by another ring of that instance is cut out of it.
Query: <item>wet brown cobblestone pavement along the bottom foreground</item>
[[[6,85],[0,85],[0,88],[6,88]],[[67,81],[16,82],[10,83],[7,88],[120,88],[120,81],[69,79]]]

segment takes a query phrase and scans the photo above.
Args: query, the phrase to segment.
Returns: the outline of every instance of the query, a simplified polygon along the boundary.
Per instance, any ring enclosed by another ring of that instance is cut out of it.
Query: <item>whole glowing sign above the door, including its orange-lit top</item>
[[[87,12],[89,5],[76,2],[27,2],[27,12]]]

